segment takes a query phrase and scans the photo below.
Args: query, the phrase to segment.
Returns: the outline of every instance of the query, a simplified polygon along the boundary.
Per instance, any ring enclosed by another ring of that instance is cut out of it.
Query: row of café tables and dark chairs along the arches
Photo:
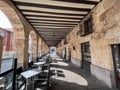
[[[49,90],[51,56],[45,55],[22,71],[21,67],[16,79],[16,90]]]

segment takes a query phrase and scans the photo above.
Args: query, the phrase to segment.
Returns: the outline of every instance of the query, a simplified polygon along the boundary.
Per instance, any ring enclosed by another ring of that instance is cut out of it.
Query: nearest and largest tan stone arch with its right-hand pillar
[[[24,66],[25,31],[17,10],[9,0],[0,1],[0,10],[6,15],[13,29],[13,50],[18,58],[18,66]]]

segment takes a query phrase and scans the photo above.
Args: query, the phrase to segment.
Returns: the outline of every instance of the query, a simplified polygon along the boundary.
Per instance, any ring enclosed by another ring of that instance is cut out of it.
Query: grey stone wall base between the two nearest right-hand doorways
[[[110,88],[116,87],[114,71],[110,71],[91,64],[91,74],[95,78],[106,84],[108,87]]]

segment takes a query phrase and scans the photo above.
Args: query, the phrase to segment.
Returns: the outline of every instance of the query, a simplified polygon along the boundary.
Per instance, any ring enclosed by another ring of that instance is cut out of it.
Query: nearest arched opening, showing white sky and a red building
[[[5,14],[0,11],[0,36],[2,37],[2,61],[1,72],[12,68],[13,51],[13,29]],[[8,65],[7,65],[8,64]]]

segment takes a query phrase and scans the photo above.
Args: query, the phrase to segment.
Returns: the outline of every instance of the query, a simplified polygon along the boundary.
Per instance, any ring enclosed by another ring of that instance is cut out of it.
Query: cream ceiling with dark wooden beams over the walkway
[[[12,0],[49,46],[57,45],[100,0]]]

